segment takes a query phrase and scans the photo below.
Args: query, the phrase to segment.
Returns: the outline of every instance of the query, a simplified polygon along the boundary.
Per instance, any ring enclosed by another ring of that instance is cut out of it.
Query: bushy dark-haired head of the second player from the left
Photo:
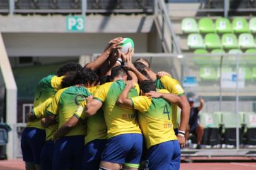
[[[99,81],[99,77],[95,71],[91,69],[83,68],[76,74],[74,79],[75,84],[84,84],[86,88],[90,88],[91,86],[95,86]]]

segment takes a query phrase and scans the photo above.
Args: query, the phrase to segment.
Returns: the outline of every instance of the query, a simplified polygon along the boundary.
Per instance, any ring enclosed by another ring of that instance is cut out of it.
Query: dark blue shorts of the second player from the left
[[[84,136],[61,137],[54,144],[52,169],[81,169]]]

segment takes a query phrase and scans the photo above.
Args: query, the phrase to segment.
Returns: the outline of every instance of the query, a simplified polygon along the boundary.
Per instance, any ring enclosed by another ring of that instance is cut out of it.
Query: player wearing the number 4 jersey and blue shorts
[[[139,111],[139,125],[148,149],[146,169],[180,169],[180,144],[173,130],[171,105],[181,106],[181,99],[165,89],[156,93],[151,80],[139,84],[141,96],[129,97],[133,87],[134,82],[127,81],[117,105]]]

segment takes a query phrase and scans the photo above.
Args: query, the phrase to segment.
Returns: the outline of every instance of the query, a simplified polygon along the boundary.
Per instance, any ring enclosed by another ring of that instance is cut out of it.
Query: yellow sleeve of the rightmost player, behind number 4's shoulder
[[[170,93],[176,94],[178,96],[184,94],[182,86],[180,86],[179,82],[176,79],[173,79],[172,77],[166,75],[161,77],[160,81],[163,84],[163,87],[170,91]]]

